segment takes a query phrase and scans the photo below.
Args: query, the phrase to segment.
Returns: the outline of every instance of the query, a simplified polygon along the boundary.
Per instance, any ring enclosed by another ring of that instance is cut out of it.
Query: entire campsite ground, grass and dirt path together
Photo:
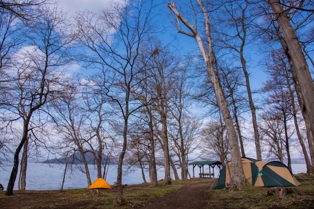
[[[301,178],[302,179],[301,179]],[[46,191],[14,191],[5,196],[0,191],[1,209],[308,209],[314,205],[314,181],[306,175],[296,176],[305,196],[290,194],[284,199],[267,196],[263,187],[246,186],[246,191],[215,189],[214,179],[173,181],[171,186],[151,184],[130,185],[124,188],[125,204],[116,203],[117,189],[101,190],[98,194],[88,189]],[[303,179],[307,180],[304,181]]]

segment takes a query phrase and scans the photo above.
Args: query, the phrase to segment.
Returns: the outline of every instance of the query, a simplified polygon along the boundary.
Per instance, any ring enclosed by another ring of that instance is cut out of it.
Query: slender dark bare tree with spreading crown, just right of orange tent
[[[111,2],[99,14],[81,12],[76,17],[77,41],[95,52],[81,54],[79,59],[87,67],[107,70],[104,75],[112,82],[106,95],[115,103],[121,114],[123,146],[118,162],[118,203],[123,203],[122,165],[128,142],[128,125],[131,114],[141,107],[132,100],[131,91],[138,85],[134,77],[143,69],[136,69],[139,48],[151,30],[150,1]],[[153,52],[152,52],[153,53]]]

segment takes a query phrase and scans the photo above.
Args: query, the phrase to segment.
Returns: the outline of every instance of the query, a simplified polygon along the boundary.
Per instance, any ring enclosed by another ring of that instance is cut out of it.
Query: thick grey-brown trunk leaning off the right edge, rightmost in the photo
[[[291,62],[295,68],[296,76],[299,81],[301,93],[304,99],[304,106],[301,107],[309,116],[312,135],[314,135],[314,84],[306,62],[299,39],[295,34],[293,27],[289,22],[283,6],[279,0],[268,0],[268,3],[276,16],[276,21],[279,24],[284,35],[285,42],[288,46]]]

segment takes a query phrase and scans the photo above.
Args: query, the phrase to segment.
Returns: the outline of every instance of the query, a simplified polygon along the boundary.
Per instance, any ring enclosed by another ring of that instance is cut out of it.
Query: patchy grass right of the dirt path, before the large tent
[[[294,193],[284,199],[276,198],[275,195],[267,195],[268,188],[246,185],[246,191],[232,191],[229,189],[217,189],[209,191],[207,206],[220,209],[308,209],[314,205],[314,181],[307,175],[302,174],[307,182],[296,178],[302,184],[295,187],[307,195],[298,196]]]

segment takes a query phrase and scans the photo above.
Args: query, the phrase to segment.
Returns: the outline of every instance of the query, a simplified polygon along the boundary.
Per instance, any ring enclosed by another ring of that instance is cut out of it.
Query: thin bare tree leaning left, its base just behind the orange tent
[[[62,96],[53,101],[50,107],[50,115],[55,124],[54,128],[58,136],[60,136],[60,139],[55,142],[58,144],[55,149],[60,150],[58,153],[64,159],[62,159],[61,163],[70,161],[72,165],[75,163],[75,160],[79,160],[84,164],[84,170],[80,170],[86,174],[87,185],[90,186],[92,183],[88,168],[89,162],[85,158],[87,150],[85,144],[93,136],[90,136],[88,127],[86,127],[85,121],[88,120],[88,116],[86,116],[80,101],[81,96],[78,84],[69,82],[64,87]],[[76,158],[77,152],[81,156],[79,159]]]

